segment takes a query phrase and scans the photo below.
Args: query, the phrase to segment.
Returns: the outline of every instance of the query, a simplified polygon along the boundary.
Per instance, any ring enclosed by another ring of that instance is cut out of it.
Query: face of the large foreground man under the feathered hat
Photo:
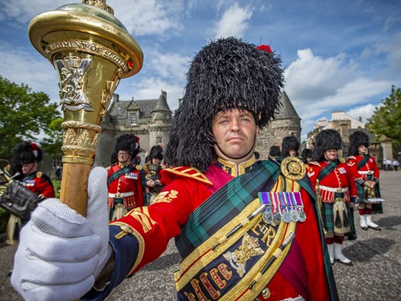
[[[212,132],[218,157],[237,164],[252,158],[259,132],[252,113],[239,109],[221,111],[213,117]]]

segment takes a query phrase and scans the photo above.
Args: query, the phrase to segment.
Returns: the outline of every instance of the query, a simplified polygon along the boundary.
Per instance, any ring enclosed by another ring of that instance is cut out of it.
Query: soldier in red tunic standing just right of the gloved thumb
[[[139,150],[139,138],[133,134],[117,137],[114,154],[117,163],[108,168],[108,206],[110,221],[127,214],[135,207],[144,205],[144,172],[140,165],[131,163]]]

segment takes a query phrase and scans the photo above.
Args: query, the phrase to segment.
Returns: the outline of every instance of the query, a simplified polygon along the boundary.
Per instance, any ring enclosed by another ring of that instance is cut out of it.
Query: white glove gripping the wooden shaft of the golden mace
[[[25,300],[75,300],[91,289],[110,256],[106,181],[104,168],[91,171],[86,219],[58,199],[32,213],[11,277]]]

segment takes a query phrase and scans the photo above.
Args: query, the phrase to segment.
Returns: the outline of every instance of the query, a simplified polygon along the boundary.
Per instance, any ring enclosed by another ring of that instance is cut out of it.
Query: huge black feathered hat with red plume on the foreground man
[[[269,123],[283,86],[281,59],[269,50],[231,37],[212,41],[195,55],[166,146],[171,166],[205,172],[217,159],[211,122],[219,111],[246,109],[259,127]]]

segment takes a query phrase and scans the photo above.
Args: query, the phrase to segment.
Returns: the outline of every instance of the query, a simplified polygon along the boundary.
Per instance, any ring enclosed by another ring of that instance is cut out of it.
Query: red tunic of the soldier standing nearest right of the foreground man
[[[312,183],[312,187],[316,193],[316,180],[317,177],[329,162],[309,162],[307,165],[307,174]],[[338,191],[337,191],[338,190]],[[334,201],[335,192],[343,192],[344,198],[347,203],[357,197],[355,182],[352,177],[350,167],[347,163],[339,163],[337,167],[329,175],[319,181],[319,192],[323,202],[332,203]],[[354,202],[355,202],[354,201]]]

